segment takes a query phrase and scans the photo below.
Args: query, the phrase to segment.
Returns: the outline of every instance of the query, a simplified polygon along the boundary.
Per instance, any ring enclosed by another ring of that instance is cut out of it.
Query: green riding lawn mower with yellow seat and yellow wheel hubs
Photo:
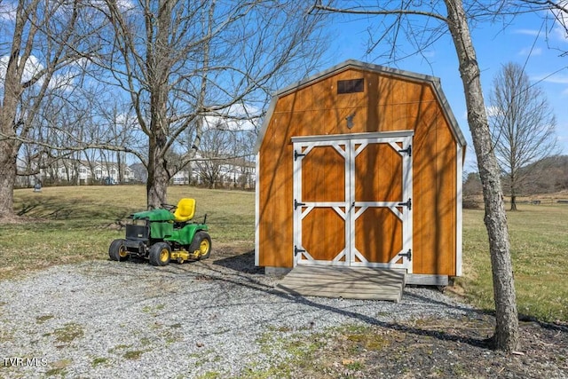
[[[108,256],[114,261],[129,257],[147,258],[152,265],[178,264],[199,260],[211,254],[211,237],[203,222],[190,222],[195,214],[195,199],[181,199],[177,206],[162,204],[162,209],[146,210],[130,216],[126,238],[114,240]]]

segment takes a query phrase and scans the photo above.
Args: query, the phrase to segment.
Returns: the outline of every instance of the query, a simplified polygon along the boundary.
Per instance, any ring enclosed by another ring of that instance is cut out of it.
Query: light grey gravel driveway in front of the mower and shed
[[[394,304],[289,296],[277,281],[250,253],[166,267],[93,261],[4,280],[0,377],[254,376],[288,359],[272,342],[291,334],[474,312],[433,289],[406,288]]]

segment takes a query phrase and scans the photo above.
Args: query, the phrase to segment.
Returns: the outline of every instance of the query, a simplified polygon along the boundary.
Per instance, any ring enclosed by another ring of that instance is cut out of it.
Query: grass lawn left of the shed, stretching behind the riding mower
[[[255,194],[172,186],[168,199],[197,201],[195,219],[207,213],[216,246],[254,249]],[[146,186],[69,186],[14,191],[14,210],[30,220],[0,225],[0,280],[50,265],[108,259],[108,245],[124,238],[116,221],[146,209]],[[35,219],[37,219],[35,221]],[[213,256],[214,257],[214,256]]]

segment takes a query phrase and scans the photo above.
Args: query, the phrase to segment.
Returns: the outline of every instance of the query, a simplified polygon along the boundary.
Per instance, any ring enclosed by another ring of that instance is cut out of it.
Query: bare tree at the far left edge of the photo
[[[77,30],[89,30],[93,24],[84,17],[87,7],[80,1],[20,0],[6,9],[1,22],[7,42],[0,45],[4,76],[0,87],[0,218],[14,216],[20,147],[33,142],[30,137],[46,94],[65,91],[82,74],[78,63],[90,48]]]

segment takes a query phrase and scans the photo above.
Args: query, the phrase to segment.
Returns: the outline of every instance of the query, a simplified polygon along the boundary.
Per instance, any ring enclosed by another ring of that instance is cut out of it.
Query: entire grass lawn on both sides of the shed
[[[145,186],[43,187],[16,190],[16,212],[36,219],[0,225],[0,280],[33,269],[107,259],[122,238],[116,220],[146,208]],[[216,246],[254,248],[255,194],[171,186],[170,202],[197,200],[196,218],[207,223]],[[568,321],[568,205],[519,205],[509,212],[518,311],[544,321]],[[456,291],[493,310],[493,285],[483,210],[463,212],[463,272]]]

